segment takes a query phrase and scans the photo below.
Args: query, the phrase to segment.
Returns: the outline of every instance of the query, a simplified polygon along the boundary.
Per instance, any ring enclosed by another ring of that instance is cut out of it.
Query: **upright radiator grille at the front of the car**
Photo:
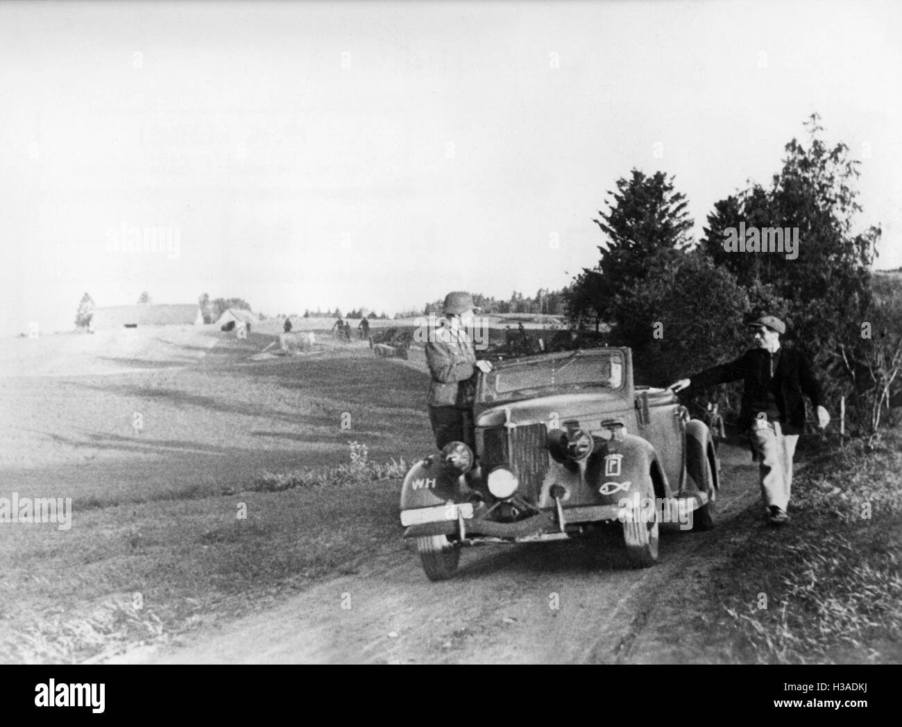
[[[547,436],[544,424],[512,427],[510,434],[504,427],[484,429],[480,448],[486,473],[497,465],[510,464],[520,481],[520,494],[529,502],[538,503],[548,473]]]

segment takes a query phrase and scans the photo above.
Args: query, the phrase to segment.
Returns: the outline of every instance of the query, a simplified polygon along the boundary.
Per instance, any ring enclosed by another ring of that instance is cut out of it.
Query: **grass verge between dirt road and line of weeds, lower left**
[[[243,492],[97,507],[65,546],[23,529],[5,559],[0,662],[97,661],[178,641],[354,573],[402,547],[406,467],[370,462],[351,443],[347,464],[262,474]]]

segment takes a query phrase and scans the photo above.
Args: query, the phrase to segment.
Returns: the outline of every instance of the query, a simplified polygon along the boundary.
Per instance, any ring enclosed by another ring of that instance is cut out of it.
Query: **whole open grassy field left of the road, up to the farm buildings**
[[[0,523],[0,661],[170,640],[399,547],[425,374],[365,344],[254,362],[269,336],[197,335],[217,345],[181,368],[145,341],[133,373],[2,380],[0,497],[70,497],[73,523]]]

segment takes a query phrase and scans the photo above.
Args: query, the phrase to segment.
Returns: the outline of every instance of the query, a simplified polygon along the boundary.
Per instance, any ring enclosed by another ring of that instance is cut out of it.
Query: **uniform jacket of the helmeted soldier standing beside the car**
[[[473,342],[463,328],[453,332],[449,327],[437,327],[430,338],[434,340],[426,344],[426,363],[432,374],[428,405],[469,409],[476,373]]]

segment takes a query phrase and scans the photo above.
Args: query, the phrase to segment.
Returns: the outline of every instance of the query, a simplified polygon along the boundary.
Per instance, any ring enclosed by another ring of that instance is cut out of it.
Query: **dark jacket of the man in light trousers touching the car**
[[[701,390],[718,383],[742,380],[742,405],[739,427],[746,430],[754,422],[756,411],[752,401],[768,387],[770,379],[770,355],[763,348],[750,348],[740,358],[729,364],[721,364],[696,373],[691,378],[694,390]],[[774,378],[780,382],[777,405],[780,410],[784,434],[801,434],[805,431],[805,394],[815,405],[822,406],[821,383],[815,377],[805,355],[792,348],[780,346],[779,363]]]

